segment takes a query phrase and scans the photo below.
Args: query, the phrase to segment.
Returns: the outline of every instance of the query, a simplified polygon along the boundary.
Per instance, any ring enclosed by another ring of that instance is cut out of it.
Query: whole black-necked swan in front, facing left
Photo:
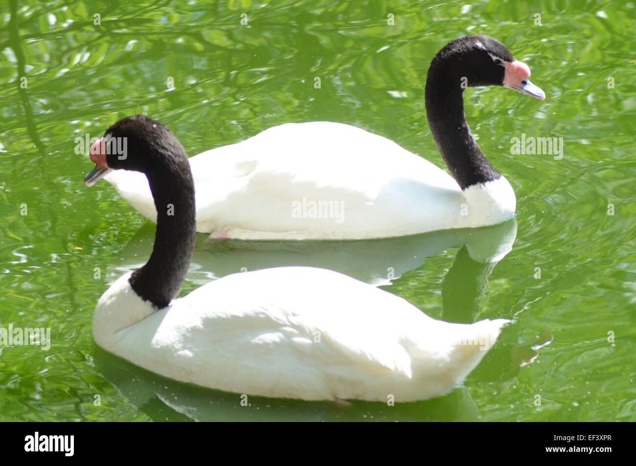
[[[121,138],[123,156],[112,147]],[[196,229],[183,147],[141,115],[113,124],[94,146],[97,167],[86,184],[109,169],[139,171],[159,213],[148,262],[118,278],[93,315],[95,342],[142,368],[255,396],[415,401],[457,386],[508,322],[438,321],[391,293],[312,267],[237,273],[173,299]]]

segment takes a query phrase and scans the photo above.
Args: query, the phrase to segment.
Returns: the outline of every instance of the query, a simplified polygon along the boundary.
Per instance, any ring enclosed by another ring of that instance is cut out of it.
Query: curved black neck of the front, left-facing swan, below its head
[[[153,157],[144,170],[155,199],[157,229],[148,262],[135,270],[130,284],[157,309],[166,307],[181,290],[195,243],[195,190],[188,157],[178,142],[169,156]],[[180,153],[175,153],[180,152]]]

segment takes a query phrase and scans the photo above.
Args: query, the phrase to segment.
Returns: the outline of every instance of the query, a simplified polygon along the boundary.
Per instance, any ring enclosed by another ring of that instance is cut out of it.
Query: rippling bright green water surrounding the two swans
[[[0,420],[635,419],[634,2],[10,1],[0,27],[0,328],[51,331],[48,350],[0,345]],[[431,316],[513,319],[463,387],[391,407],[241,406],[97,349],[95,303],[144,262],[154,226],[108,183],[85,187],[92,164],[75,153],[77,136],[144,113],[192,156],[328,120],[443,166],[425,73],[443,44],[474,33],[506,44],[547,96],[465,95],[481,149],[516,191],[516,222],[355,244],[202,235],[183,288],[293,263],[383,284],[392,267],[383,288]],[[563,157],[511,154],[523,133],[563,138]],[[464,246],[499,238],[514,243],[494,268]]]

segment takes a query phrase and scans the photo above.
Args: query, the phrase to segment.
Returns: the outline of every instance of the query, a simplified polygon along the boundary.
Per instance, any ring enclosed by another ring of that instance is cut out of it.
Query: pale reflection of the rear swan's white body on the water
[[[111,262],[107,268],[109,284],[146,263],[155,229],[154,223],[146,223]],[[298,265],[335,270],[382,286],[421,267],[425,258],[461,244],[472,260],[492,269],[512,249],[515,238],[515,218],[492,227],[364,241],[240,241],[198,234],[186,281],[201,286],[237,272]]]

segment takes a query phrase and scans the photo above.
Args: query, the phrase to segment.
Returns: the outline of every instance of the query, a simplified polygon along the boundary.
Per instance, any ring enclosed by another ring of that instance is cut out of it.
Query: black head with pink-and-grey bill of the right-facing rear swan
[[[438,52],[429,68],[427,87],[431,83],[443,92],[448,85],[460,89],[506,86],[543,100],[545,94],[530,83],[529,76],[529,67],[515,60],[504,44],[475,34],[450,41]]]

